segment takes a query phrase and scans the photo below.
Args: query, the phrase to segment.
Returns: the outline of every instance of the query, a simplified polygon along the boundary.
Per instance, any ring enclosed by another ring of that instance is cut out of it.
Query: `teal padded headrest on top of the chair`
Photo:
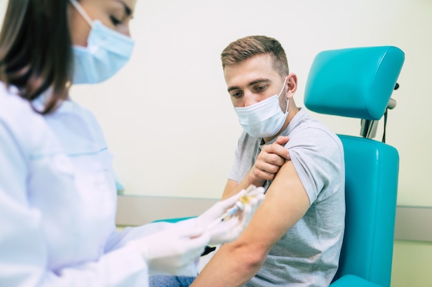
[[[321,114],[379,120],[404,58],[393,46],[320,52],[308,74],[304,105]]]

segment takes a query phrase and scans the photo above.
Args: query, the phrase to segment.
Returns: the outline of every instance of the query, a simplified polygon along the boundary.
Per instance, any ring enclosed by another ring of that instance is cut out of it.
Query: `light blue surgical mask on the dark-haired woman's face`
[[[77,2],[69,0],[91,26],[87,47],[73,46],[74,84],[101,83],[107,80],[130,59],[134,41],[130,37],[106,27],[99,20],[92,21]]]

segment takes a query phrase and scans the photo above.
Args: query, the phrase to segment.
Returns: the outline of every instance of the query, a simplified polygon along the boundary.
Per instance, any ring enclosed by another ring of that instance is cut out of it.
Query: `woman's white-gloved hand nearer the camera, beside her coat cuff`
[[[194,262],[197,263],[209,241],[210,233],[204,228],[176,223],[128,245],[141,253],[150,274],[196,276]]]

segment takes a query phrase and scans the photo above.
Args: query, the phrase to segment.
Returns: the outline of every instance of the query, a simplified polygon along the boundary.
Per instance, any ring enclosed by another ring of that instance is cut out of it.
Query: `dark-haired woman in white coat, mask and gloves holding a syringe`
[[[8,4],[0,34],[0,286],[132,287],[147,286],[150,274],[193,275],[204,247],[235,240],[264,198],[254,189],[223,222],[242,194],[193,220],[116,232],[111,155],[68,89],[104,81],[128,61],[134,6]]]

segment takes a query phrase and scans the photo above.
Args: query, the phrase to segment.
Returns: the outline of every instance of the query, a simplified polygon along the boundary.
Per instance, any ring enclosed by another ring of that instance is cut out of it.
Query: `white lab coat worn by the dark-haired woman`
[[[0,83],[0,286],[147,286],[146,262],[124,244],[163,227],[116,232],[95,117],[72,101],[41,116],[16,93]]]

